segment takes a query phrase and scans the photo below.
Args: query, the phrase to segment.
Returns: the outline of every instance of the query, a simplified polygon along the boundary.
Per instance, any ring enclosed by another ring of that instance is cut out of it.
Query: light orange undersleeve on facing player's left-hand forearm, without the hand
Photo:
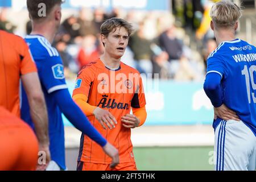
[[[97,106],[90,105],[87,102],[87,96],[85,96],[84,94],[73,94],[72,98],[86,116],[93,115],[93,111],[94,109],[96,109]]]

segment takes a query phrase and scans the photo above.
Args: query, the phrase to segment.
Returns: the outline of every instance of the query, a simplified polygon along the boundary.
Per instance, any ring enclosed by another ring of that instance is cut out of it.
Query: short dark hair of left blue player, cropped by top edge
[[[52,8],[55,5],[61,5],[63,0],[27,0],[27,9],[28,12],[30,13],[30,18],[31,19],[43,19],[46,18],[44,16],[39,16],[38,12],[40,7],[40,3],[44,3],[46,5],[46,16],[49,15],[51,12]]]

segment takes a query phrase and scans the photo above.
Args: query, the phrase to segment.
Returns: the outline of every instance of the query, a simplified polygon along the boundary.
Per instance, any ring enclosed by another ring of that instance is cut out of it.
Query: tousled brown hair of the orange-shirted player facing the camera
[[[126,20],[123,20],[121,18],[110,18],[101,24],[101,34],[107,37],[110,32],[112,32],[113,30],[115,31],[115,29],[118,27],[126,28],[129,36],[134,31],[131,23],[126,22]]]

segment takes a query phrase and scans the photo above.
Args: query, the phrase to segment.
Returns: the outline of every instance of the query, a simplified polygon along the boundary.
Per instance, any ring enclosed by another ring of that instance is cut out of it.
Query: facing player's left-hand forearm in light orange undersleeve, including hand
[[[117,120],[108,110],[90,105],[87,102],[88,98],[84,94],[75,94],[72,98],[86,116],[95,115],[96,119],[105,130],[106,126],[108,126],[109,129],[112,129],[115,127],[115,124],[117,124]]]

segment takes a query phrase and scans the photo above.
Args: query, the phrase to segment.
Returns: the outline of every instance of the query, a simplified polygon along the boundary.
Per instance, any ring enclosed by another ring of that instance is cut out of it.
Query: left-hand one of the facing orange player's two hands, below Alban
[[[100,107],[96,107],[96,109],[94,109],[93,111],[93,114],[95,115],[96,119],[101,123],[101,126],[105,130],[106,130],[105,125],[107,125],[109,129],[113,129],[113,127],[115,127],[115,124],[117,124],[117,120],[108,110],[101,109]]]

